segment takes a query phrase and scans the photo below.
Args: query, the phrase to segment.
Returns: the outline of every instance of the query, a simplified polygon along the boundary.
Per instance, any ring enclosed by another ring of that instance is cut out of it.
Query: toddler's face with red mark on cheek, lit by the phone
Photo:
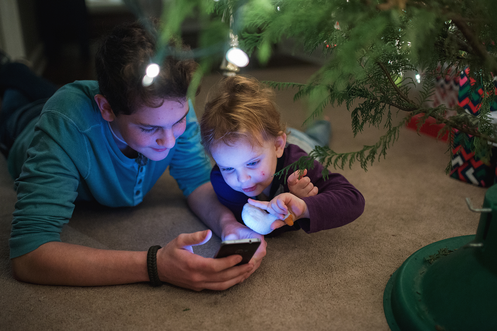
[[[212,157],[231,188],[247,196],[257,196],[271,185],[277,158],[283,155],[286,135],[264,141],[262,147],[246,140],[233,146],[223,143],[212,149]]]

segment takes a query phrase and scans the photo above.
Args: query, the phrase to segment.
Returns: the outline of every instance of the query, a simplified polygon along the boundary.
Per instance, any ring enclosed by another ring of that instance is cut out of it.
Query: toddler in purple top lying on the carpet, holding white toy
[[[248,202],[277,216],[271,224],[272,237],[303,229],[306,233],[340,227],[352,222],[364,210],[364,197],[338,173],[322,176],[323,165],[299,170],[285,180],[274,173],[307,153],[288,143],[285,126],[271,98],[273,91],[244,76],[224,79],[209,97],[200,121],[202,144],[216,165],[211,182],[219,201],[240,223]],[[298,132],[292,142],[305,140]],[[293,226],[282,219],[290,212]]]

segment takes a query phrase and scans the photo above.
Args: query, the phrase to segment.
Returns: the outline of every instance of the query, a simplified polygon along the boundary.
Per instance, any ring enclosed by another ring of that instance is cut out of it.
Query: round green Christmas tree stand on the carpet
[[[497,331],[497,184],[474,211],[476,235],[425,246],[390,277],[383,308],[392,331]],[[425,260],[441,248],[454,252]]]

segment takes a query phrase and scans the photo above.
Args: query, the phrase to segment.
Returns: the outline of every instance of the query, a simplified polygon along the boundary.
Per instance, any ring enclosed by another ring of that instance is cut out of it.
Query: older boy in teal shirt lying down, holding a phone
[[[168,165],[192,210],[218,236],[260,238],[219,203],[209,182],[210,164],[186,100],[196,64],[168,57],[159,76],[145,86],[154,50],[153,34],[139,23],[114,29],[96,56],[98,83],[60,88],[7,146],[18,198],[9,241],[18,280],[58,285],[152,281],[147,252],[66,244],[59,234],[75,200],[135,206]],[[191,246],[210,236],[210,230],[183,234],[159,249],[158,278],[195,290],[225,289],[246,279],[265,255],[261,245],[248,264],[234,266],[239,255],[206,259],[193,254]]]

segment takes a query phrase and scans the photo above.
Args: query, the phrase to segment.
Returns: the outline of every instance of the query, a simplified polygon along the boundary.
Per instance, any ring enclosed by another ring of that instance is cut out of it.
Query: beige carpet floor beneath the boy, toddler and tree
[[[260,80],[305,82],[316,68],[251,72]],[[197,98],[218,76],[204,81]],[[278,92],[289,126],[299,127],[304,106],[294,91]],[[346,110],[331,117],[331,147],[354,151],[375,142],[377,129],[353,138]],[[485,189],[444,174],[446,145],[407,129],[387,159],[365,172],[358,165],[339,170],[366,199],[363,215],[338,229],[307,235],[293,232],[267,239],[267,255],[243,284],[226,291],[194,292],[146,283],[104,287],[40,286],[12,278],[8,259],[13,181],[0,161],[0,329],[1,330],[388,330],[383,291],[390,275],[418,248],[448,237],[476,233]],[[134,208],[78,205],[62,232],[65,242],[95,248],[146,250],[180,233],[205,229],[188,210],[166,173]],[[219,238],[194,248],[213,256]]]

